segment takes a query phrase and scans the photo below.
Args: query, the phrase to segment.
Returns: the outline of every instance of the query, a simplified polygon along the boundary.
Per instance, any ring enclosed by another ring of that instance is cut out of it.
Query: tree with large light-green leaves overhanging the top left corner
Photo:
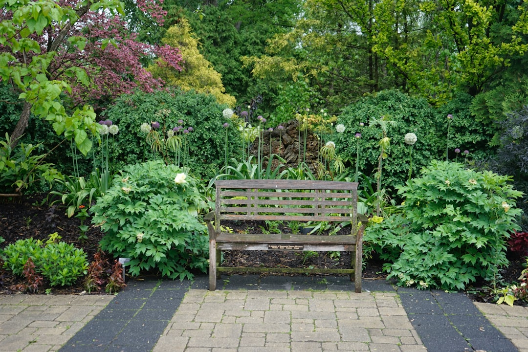
[[[64,79],[53,78],[49,66],[59,48],[83,50],[86,39],[69,36],[76,22],[90,9],[121,10],[117,0],[79,1],[61,5],[52,0],[38,2],[2,1],[0,26],[0,77],[4,84],[12,84],[21,91],[23,101],[20,119],[11,134],[11,147],[23,135],[31,113],[52,123],[58,135],[73,138],[83,154],[91,149],[87,130],[95,133],[95,112],[84,106],[67,112],[60,100],[63,91],[70,91],[68,77],[87,83],[86,72],[79,66],[64,69]]]

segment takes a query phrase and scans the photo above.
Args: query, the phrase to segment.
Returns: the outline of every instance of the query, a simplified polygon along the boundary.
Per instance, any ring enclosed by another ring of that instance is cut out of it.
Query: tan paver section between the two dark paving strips
[[[394,292],[190,290],[154,352],[424,352]]]

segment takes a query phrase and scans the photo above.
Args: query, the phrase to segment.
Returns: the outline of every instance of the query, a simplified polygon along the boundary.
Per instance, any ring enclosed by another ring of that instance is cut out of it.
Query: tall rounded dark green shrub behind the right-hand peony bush
[[[448,114],[453,116],[447,148],[450,160],[457,158],[455,148],[469,150],[472,157],[478,150],[485,150],[493,132],[487,131],[482,122],[474,121],[469,115],[470,100],[469,96],[458,94],[446,106],[435,109],[425,99],[409,97],[397,90],[381,91],[346,107],[336,122],[337,125],[343,124],[345,131],[331,138],[335,141],[337,153],[346,161],[348,174],[353,175],[357,147],[354,135],[360,132],[359,170],[372,176],[378,167],[381,129],[370,127],[369,122],[381,116],[390,116],[396,123],[387,129],[390,147],[386,151],[387,158],[383,160],[381,181],[382,188],[394,190],[395,186],[404,184],[409,175],[409,146],[404,142],[407,133],[413,132],[418,137],[412,146],[412,175],[417,175],[430,160],[446,159]],[[360,127],[360,122],[365,126]],[[460,155],[458,157],[461,158]]]

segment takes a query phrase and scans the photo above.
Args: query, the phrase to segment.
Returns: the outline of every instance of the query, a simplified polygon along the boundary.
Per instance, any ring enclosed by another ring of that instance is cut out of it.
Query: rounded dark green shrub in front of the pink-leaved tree
[[[161,129],[168,130],[180,125],[178,120],[183,120],[184,127],[193,127],[193,131],[186,135],[189,159],[185,165],[192,165],[195,177],[210,179],[224,164],[225,131],[222,125],[230,122],[222,115],[224,108],[212,96],[178,90],[122,96],[105,113],[105,118],[117,123],[120,130],[109,142],[110,161],[115,164],[112,169],[119,170],[125,165],[156,158],[147,144],[146,135],[140,131],[142,123],[157,121],[161,123]],[[162,110],[170,111],[165,117],[165,126],[160,117]],[[229,158],[237,157],[241,148],[240,134],[235,128],[229,128],[228,136]]]

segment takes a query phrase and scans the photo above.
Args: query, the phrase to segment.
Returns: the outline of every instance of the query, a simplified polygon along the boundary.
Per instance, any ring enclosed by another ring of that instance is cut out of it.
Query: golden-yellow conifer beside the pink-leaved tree
[[[225,93],[221,74],[200,54],[198,40],[193,37],[187,20],[182,18],[178,24],[170,27],[162,42],[180,49],[183,70],[180,72],[164,64],[152,65],[148,70],[155,78],[183,90],[193,89],[199,93],[212,94],[219,103],[234,106],[235,98]]]

